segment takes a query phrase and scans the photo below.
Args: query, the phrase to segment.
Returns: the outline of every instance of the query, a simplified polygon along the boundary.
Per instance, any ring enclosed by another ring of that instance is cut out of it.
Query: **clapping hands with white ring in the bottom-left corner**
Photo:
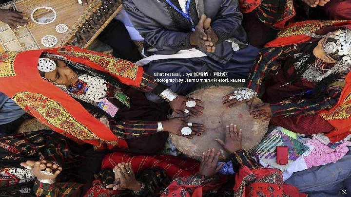
[[[30,169],[32,174],[39,179],[55,179],[62,170],[62,167],[51,162],[51,161],[26,161],[20,163],[21,166]],[[41,171],[45,171],[50,174],[44,174]]]

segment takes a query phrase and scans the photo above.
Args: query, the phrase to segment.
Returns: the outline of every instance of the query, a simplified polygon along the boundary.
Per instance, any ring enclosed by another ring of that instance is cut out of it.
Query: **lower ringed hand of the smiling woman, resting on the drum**
[[[190,116],[176,117],[166,121],[162,121],[163,130],[179,136],[189,138],[189,139],[193,139],[194,135],[200,136],[201,133],[205,131],[204,129],[201,128],[203,127],[203,125],[184,122],[189,118]],[[190,128],[191,133],[189,132],[190,134],[187,134],[187,135],[183,134],[182,130],[184,128],[188,128],[188,129]]]

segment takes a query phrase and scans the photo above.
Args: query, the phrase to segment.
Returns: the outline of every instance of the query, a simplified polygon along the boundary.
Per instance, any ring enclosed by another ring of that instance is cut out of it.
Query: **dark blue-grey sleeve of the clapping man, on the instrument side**
[[[128,13],[134,27],[145,41],[158,50],[179,51],[193,48],[190,45],[191,33],[169,31],[152,18],[140,12],[130,0],[124,1],[123,6]]]

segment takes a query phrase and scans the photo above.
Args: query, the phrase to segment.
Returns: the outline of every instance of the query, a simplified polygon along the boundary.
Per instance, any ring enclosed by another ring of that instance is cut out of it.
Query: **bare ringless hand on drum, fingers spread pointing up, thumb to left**
[[[218,138],[216,138],[215,141],[221,144],[224,149],[232,154],[237,150],[237,147],[241,149],[241,136],[242,130],[240,129],[238,131],[236,125],[231,124],[226,126],[226,136],[224,142]]]

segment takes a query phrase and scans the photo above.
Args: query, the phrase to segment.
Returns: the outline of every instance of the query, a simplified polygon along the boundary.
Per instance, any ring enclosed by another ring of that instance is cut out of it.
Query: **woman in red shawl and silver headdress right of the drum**
[[[299,22],[268,43],[245,83],[265,102],[252,106],[251,115],[296,133],[330,132],[331,142],[349,135],[350,24]],[[235,94],[226,95],[223,103],[240,103],[231,96]]]

